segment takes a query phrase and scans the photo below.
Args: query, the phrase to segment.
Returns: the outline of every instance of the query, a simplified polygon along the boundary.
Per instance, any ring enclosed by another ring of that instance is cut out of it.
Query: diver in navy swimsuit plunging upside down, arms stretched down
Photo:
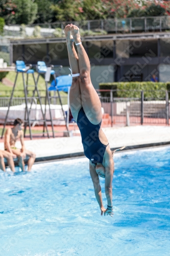
[[[91,83],[90,61],[82,45],[79,28],[70,24],[65,27],[64,32],[72,75],[69,94],[71,113],[81,132],[84,154],[89,159],[90,175],[101,215],[104,213],[112,217],[113,154],[115,151],[110,150],[109,142],[101,129],[101,101]],[[107,208],[103,206],[99,176],[105,178]]]

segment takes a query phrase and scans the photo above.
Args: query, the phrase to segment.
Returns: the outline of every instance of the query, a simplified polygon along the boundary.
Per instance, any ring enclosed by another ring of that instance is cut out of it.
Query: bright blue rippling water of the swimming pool
[[[0,172],[0,255],[170,255],[169,156],[115,154],[113,218],[100,216],[86,158]]]

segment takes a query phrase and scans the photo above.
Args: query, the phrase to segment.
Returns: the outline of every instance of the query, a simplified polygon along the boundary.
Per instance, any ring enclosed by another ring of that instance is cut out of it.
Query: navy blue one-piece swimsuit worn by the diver
[[[82,136],[82,144],[85,156],[91,160],[92,163],[102,163],[107,145],[104,145],[99,139],[99,130],[101,123],[92,124],[83,108],[79,111],[77,118],[77,125],[79,126]]]

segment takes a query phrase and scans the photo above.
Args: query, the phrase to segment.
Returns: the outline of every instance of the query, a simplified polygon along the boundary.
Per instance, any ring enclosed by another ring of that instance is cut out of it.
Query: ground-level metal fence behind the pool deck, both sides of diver
[[[102,108],[105,114],[103,115],[103,123],[105,126],[114,125],[134,125],[134,124],[169,124],[170,118],[170,101],[168,98],[168,91],[164,91],[162,98],[146,98],[144,92],[140,91],[140,97],[134,98],[120,98],[114,97],[115,90],[109,91],[110,96],[100,96]],[[10,97],[0,97],[0,107],[7,107]],[[28,102],[31,103],[32,97],[28,98]],[[42,104],[45,104],[45,96],[41,97]],[[67,96],[61,96],[62,104],[67,104]],[[51,104],[60,105],[59,98],[57,96],[50,96]],[[31,115],[37,115],[38,97],[34,97],[34,107],[31,111]],[[18,106],[25,104],[24,97],[14,97],[12,99],[11,106]],[[2,109],[2,113],[3,113]],[[14,108],[13,111],[19,117],[19,108]],[[13,113],[14,113],[13,112]],[[23,113],[22,113],[23,114]],[[3,123],[4,114],[0,117]],[[13,116],[12,116],[13,118]],[[21,117],[22,118],[22,117]]]

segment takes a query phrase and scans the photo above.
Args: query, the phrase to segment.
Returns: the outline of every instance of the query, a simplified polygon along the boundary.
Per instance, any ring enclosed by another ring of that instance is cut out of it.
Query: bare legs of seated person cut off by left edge
[[[9,167],[11,168],[12,172],[15,173],[15,166],[14,166],[13,158],[16,158],[16,155],[14,155],[13,153],[10,154],[9,152],[4,151],[4,150],[0,150],[0,169],[4,170],[4,172],[6,172],[4,158],[7,159]]]

